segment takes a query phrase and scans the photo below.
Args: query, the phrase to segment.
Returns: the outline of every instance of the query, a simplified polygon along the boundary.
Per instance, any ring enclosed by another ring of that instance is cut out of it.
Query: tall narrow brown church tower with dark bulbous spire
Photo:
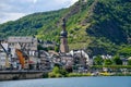
[[[66,30],[66,18],[62,18],[62,32],[60,33],[60,52],[69,52],[68,33]]]

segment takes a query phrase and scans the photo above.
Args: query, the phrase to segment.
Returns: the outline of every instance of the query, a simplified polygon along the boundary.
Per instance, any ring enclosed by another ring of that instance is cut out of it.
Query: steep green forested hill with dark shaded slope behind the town
[[[0,37],[35,35],[59,41],[67,18],[70,49],[116,53],[131,49],[131,0],[80,0],[68,9],[35,13],[0,25]]]

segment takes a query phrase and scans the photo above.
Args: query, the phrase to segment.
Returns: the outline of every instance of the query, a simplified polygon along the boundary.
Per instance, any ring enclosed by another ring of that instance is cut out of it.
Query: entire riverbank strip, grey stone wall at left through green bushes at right
[[[106,67],[106,66],[105,66]],[[63,67],[55,66],[51,72],[46,71],[0,71],[0,80],[34,79],[34,78],[60,78],[83,76],[131,76],[131,70],[121,70],[120,66],[108,66],[109,72],[104,72],[103,66],[95,66],[85,72],[69,72]],[[123,67],[122,67],[123,69]]]

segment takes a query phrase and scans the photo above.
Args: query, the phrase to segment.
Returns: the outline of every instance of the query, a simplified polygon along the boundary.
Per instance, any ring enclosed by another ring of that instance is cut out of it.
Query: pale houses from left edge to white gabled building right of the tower
[[[55,42],[39,42],[35,37],[9,37],[0,42],[0,70],[22,70],[24,59],[29,70],[51,70],[55,64],[62,66],[93,64],[84,50],[71,50],[68,53],[38,50],[38,45],[53,46]],[[55,44],[56,45],[56,44]],[[20,50],[17,52],[16,50]],[[27,59],[27,60],[26,60]],[[24,62],[25,63],[25,62]]]

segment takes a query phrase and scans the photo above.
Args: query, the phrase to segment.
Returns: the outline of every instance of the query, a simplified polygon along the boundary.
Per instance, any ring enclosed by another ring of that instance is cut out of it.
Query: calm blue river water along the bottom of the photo
[[[0,87],[131,87],[131,76],[9,80],[0,82]]]

